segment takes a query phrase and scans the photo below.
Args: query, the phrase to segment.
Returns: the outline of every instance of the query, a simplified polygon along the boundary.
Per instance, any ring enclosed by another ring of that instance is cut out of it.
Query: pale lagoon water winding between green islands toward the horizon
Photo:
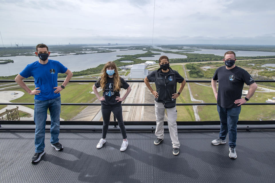
[[[109,47],[122,47],[122,46],[137,46],[137,45],[111,45]],[[102,47],[102,46],[87,46],[87,47]],[[108,47],[107,45],[104,47]],[[154,46],[156,49],[161,49],[160,47]],[[81,71],[93,67],[97,67],[100,64],[107,63],[108,61],[114,61],[120,57],[117,55],[135,55],[145,53],[142,50],[123,50],[119,49],[110,49],[115,50],[110,53],[92,53],[92,54],[83,54],[83,55],[63,55],[56,57],[49,57],[52,60],[58,60],[63,65],[68,67],[71,71]],[[164,50],[164,49],[163,49]],[[172,50],[170,50],[172,51]],[[182,51],[182,50],[175,50]],[[195,51],[190,53],[208,53],[223,56],[227,50],[219,50],[219,49],[202,49],[202,51]],[[89,52],[89,51],[87,51]],[[92,52],[92,51],[91,51]],[[142,60],[158,60],[160,56],[166,55],[168,58],[186,58],[186,55],[177,55],[173,53],[164,53],[153,51],[154,53],[161,53],[161,55],[154,55],[154,57],[140,57]],[[52,54],[58,55],[58,53]],[[268,56],[275,55],[275,52],[262,52],[262,51],[236,51],[237,56]],[[11,59],[14,63],[1,64],[0,65],[0,76],[9,76],[20,73],[26,65],[38,60],[36,56],[15,56],[15,57],[1,57],[0,59]],[[268,65],[269,67],[271,65]],[[266,67],[268,67],[266,66]],[[271,66],[274,67],[274,66]]]

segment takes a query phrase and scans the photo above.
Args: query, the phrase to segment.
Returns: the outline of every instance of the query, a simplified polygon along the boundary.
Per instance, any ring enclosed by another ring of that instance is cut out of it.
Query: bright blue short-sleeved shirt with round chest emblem
[[[59,61],[48,60],[48,63],[41,64],[39,61],[35,61],[31,64],[28,64],[23,71],[19,74],[22,77],[34,77],[35,87],[39,87],[40,94],[34,95],[36,100],[50,100],[60,96],[55,94],[54,87],[57,87],[57,75],[58,73],[65,73],[67,67],[62,65]]]

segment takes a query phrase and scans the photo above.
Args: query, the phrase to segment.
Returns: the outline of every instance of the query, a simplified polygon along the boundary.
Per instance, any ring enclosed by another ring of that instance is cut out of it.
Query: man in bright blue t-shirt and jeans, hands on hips
[[[63,149],[59,143],[59,123],[61,100],[60,92],[65,88],[72,77],[72,72],[59,61],[49,60],[50,51],[44,44],[36,46],[35,54],[38,61],[28,64],[16,77],[15,81],[30,95],[34,95],[34,122],[35,126],[35,154],[32,163],[38,162],[45,154],[45,126],[47,111],[51,116],[51,144],[55,150]],[[61,86],[57,85],[58,73],[65,73],[67,77]],[[31,90],[23,81],[24,78],[34,77],[35,89]]]

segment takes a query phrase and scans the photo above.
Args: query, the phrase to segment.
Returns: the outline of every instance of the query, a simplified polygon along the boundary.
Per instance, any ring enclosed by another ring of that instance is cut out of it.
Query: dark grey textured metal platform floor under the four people
[[[108,132],[101,149],[101,132],[61,131],[64,150],[50,146],[31,163],[33,131],[0,131],[0,182],[274,182],[275,131],[238,131],[237,159],[229,158],[228,143],[213,146],[218,131],[179,131],[180,154],[172,154],[169,132],[154,145],[152,132],[127,131],[129,146],[120,152],[120,132]]]

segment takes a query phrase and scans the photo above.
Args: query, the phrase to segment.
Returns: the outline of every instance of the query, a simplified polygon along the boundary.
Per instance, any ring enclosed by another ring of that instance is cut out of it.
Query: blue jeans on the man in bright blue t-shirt
[[[35,123],[35,152],[43,152],[45,148],[45,127],[47,120],[47,111],[51,116],[51,144],[59,141],[59,124],[61,98],[60,96],[51,100],[34,100],[34,123]]]

